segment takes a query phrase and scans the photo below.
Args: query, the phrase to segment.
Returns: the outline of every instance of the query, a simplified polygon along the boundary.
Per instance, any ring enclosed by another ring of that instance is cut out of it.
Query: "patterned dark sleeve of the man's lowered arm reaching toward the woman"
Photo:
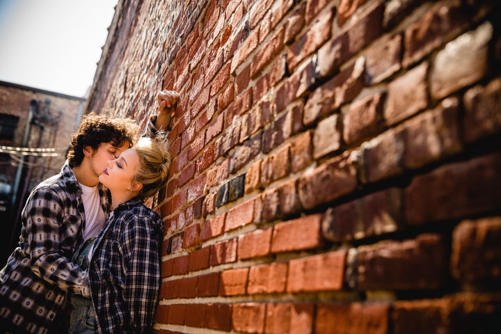
[[[26,202],[24,209],[26,236],[29,242],[31,269],[35,275],[63,291],[90,296],[88,276],[66,255],[73,241],[63,239],[63,229],[79,229],[79,220],[65,216],[61,199],[53,189],[38,189]]]

